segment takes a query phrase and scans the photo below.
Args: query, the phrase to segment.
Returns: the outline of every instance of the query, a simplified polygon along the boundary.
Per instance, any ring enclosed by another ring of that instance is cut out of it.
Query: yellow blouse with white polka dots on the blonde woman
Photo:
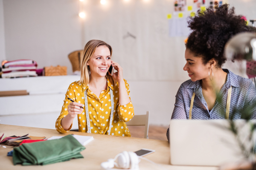
[[[125,81],[126,90],[129,95],[129,85]],[[67,112],[67,106],[71,102],[69,98],[72,98],[75,102],[82,103],[84,111],[81,114],[78,114],[78,124],[79,132],[87,132],[87,122],[86,122],[86,113],[84,106],[84,91],[87,91],[87,101],[88,101],[88,111],[90,117],[90,128],[92,133],[99,134],[108,134],[108,128],[110,123],[111,116],[111,97],[110,97],[110,88],[113,90],[113,99],[114,99],[114,112],[113,112],[113,121],[111,127],[111,135],[116,136],[129,136],[131,133],[127,128],[125,122],[128,122],[134,116],[134,108],[131,102],[127,105],[119,105],[119,85],[116,83],[112,85],[108,80],[108,88],[101,92],[99,98],[90,91],[88,85],[84,86],[81,83],[73,82],[70,84],[67,89],[66,97],[64,99],[64,105],[61,110],[61,114],[58,117],[55,127],[59,133],[67,133],[70,128],[66,131],[61,127],[61,119],[65,117]],[[130,97],[130,96],[129,96]],[[130,98],[131,99],[131,98]]]

